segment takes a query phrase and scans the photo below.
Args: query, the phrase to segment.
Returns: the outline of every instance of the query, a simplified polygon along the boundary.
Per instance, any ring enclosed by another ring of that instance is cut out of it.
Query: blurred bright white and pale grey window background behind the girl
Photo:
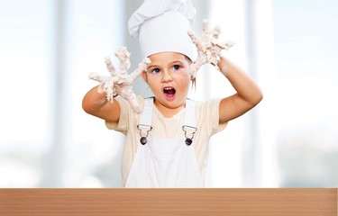
[[[338,187],[338,1],[192,0],[193,30],[218,24],[224,51],[261,87],[263,101],[210,144],[208,187]],[[126,46],[142,0],[0,1],[0,187],[121,187],[123,135],[81,108]],[[118,62],[114,63],[117,65]],[[151,94],[139,79],[137,94]],[[233,94],[213,67],[195,100]]]

